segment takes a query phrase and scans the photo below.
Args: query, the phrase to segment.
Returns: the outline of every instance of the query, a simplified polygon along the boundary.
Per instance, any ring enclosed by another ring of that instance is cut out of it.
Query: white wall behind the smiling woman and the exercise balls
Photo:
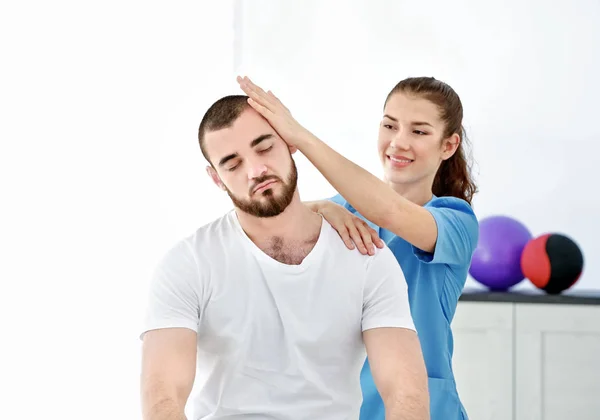
[[[299,121],[380,175],[377,125],[400,79],[434,76],[465,107],[479,218],[507,214],[532,233],[573,237],[586,266],[573,291],[600,289],[600,3],[541,0],[241,2],[238,71]],[[305,198],[332,190],[305,161]],[[476,287],[470,279],[467,286]],[[531,289],[524,281],[515,289]]]

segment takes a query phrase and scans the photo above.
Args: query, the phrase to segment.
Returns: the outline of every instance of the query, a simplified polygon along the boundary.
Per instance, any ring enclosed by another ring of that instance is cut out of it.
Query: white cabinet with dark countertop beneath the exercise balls
[[[600,296],[463,294],[452,323],[472,420],[600,419]]]

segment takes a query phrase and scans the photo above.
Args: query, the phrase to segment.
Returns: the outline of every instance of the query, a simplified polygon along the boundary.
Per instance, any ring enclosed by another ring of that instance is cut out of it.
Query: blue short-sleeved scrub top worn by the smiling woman
[[[479,223],[471,206],[455,197],[433,197],[425,208],[433,215],[438,237],[433,254],[366,220],[340,195],[331,201],[344,206],[379,231],[396,256],[408,283],[408,296],[429,376],[431,420],[467,419],[460,402],[452,353],[450,323],[467,279],[479,238]],[[385,408],[371,376],[368,360],[361,372],[361,420],[384,420]]]

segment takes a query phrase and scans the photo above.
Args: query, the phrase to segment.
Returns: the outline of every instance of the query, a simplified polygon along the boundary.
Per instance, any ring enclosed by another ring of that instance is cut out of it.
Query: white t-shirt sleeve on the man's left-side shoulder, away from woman
[[[188,243],[181,241],[158,263],[150,280],[140,338],[150,330],[188,328],[198,332],[201,278]]]

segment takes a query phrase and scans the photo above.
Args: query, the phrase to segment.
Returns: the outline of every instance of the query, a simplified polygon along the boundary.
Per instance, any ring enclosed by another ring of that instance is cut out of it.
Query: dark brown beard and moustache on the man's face
[[[281,178],[274,175],[265,175],[256,178],[250,188],[250,197],[252,197],[254,195],[252,194],[252,191],[258,184],[269,180],[276,180],[279,181],[282,186],[280,194],[276,195],[273,188],[269,187],[258,193],[260,195],[260,198],[258,199],[242,199],[236,197],[229,189],[227,189],[227,194],[231,198],[231,201],[233,201],[233,204],[244,213],[255,217],[275,217],[283,213],[287,206],[292,202],[294,193],[296,192],[296,186],[298,185],[298,170],[296,168],[296,163],[294,162],[294,159],[291,159],[291,161],[292,168],[287,181],[283,181]]]

